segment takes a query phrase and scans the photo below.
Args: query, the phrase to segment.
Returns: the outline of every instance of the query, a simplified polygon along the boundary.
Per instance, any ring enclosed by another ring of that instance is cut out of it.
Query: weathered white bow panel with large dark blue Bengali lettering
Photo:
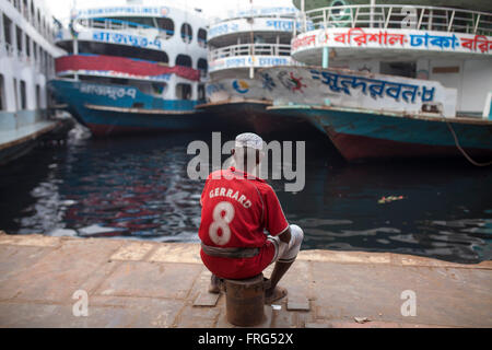
[[[456,89],[441,83],[319,67],[260,70],[263,95],[276,105],[331,105],[418,114],[430,106],[436,115],[456,116]]]

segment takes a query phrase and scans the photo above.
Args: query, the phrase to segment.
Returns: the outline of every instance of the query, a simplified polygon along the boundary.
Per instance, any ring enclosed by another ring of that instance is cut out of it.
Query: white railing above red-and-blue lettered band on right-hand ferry
[[[300,13],[297,32],[332,27],[403,28],[492,35],[492,13],[423,5],[340,5]]]

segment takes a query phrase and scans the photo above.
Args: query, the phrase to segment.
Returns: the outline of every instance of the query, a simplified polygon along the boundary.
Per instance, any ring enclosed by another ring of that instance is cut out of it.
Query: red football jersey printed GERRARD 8
[[[243,279],[261,273],[274,255],[267,241],[284,233],[289,223],[273,189],[262,179],[234,167],[210,174],[201,195],[199,237],[208,246],[258,247],[253,258],[216,258],[201,252],[203,264],[221,278]]]

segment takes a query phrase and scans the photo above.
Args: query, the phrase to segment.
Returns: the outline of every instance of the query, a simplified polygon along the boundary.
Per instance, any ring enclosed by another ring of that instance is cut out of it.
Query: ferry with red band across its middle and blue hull
[[[72,11],[56,36],[69,52],[50,82],[57,100],[95,136],[199,129],[206,98],[207,21],[167,5]]]

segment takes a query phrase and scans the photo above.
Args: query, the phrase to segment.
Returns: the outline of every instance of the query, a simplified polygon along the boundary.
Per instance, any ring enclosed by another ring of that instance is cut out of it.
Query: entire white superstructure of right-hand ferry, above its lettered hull
[[[482,115],[492,92],[490,1],[295,0],[292,57],[309,66],[440,82],[456,110]],[[472,7],[472,9],[471,9]]]

